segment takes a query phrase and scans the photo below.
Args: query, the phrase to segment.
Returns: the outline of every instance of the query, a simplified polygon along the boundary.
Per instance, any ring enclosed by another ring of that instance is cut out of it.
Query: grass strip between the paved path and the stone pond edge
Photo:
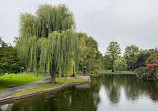
[[[42,90],[46,90],[46,89],[51,89],[51,88],[55,88],[55,87],[58,87],[64,83],[68,83],[68,82],[80,82],[80,81],[85,81],[85,80],[82,80],[82,79],[64,79],[64,78],[57,78],[56,81],[58,82],[58,84],[50,84],[50,83],[43,83],[43,84],[40,84],[38,85],[37,87],[34,87],[32,89],[28,89],[28,90],[25,90],[23,92],[19,92],[19,93],[16,93],[16,94],[13,94],[11,96],[19,96],[19,95],[23,95],[23,94],[29,94],[29,93],[33,93],[33,92],[37,92],[37,91],[42,91]]]

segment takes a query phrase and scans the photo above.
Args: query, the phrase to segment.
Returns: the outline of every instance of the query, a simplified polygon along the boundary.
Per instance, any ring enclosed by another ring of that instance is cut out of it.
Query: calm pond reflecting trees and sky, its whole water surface
[[[158,82],[135,75],[92,77],[91,84],[0,106],[1,111],[157,111]]]

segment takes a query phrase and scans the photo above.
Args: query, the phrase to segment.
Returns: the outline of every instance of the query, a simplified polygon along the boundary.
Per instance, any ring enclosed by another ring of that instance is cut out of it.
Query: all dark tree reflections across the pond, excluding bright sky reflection
[[[102,85],[112,104],[119,103],[122,89],[128,100],[150,96],[152,100],[158,101],[158,82],[141,81],[132,75],[105,75],[93,77],[90,88],[70,87],[56,94],[17,102],[12,106],[12,111],[96,111]]]

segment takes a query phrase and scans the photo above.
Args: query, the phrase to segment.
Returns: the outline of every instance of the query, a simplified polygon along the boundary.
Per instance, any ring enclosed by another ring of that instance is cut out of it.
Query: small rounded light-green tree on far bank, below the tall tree
[[[114,71],[125,71],[127,70],[127,63],[124,58],[118,58],[114,61]]]

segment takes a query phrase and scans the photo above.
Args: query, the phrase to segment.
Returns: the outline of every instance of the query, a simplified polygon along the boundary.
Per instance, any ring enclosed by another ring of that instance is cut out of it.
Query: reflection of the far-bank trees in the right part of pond
[[[112,103],[119,102],[121,88],[128,100],[135,101],[140,96],[149,95],[152,100],[158,101],[158,82],[139,80],[134,75],[106,75],[103,83]]]

